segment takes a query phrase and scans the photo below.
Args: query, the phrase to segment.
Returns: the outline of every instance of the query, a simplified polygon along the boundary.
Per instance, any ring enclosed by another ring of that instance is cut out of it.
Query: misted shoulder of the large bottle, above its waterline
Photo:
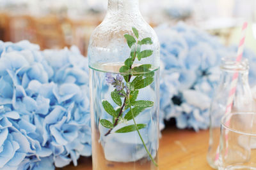
[[[124,18],[122,18],[124,17]],[[132,31],[138,30],[138,38]],[[156,32],[142,17],[118,16],[104,18],[103,22],[93,31],[88,47],[89,64],[105,62],[122,62],[131,55],[131,46],[127,44],[125,34],[136,39],[136,43],[150,38],[152,43],[141,45],[140,52],[151,50],[152,55],[147,59],[136,60],[136,64],[152,64],[159,67],[159,41]],[[136,47],[137,48],[137,47]]]

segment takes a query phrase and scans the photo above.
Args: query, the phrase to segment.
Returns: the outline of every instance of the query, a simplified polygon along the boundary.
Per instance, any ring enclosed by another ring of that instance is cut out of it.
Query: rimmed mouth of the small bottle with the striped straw
[[[241,61],[237,61],[236,57],[223,57],[221,59],[220,68],[227,71],[248,71],[248,59],[241,59]]]

